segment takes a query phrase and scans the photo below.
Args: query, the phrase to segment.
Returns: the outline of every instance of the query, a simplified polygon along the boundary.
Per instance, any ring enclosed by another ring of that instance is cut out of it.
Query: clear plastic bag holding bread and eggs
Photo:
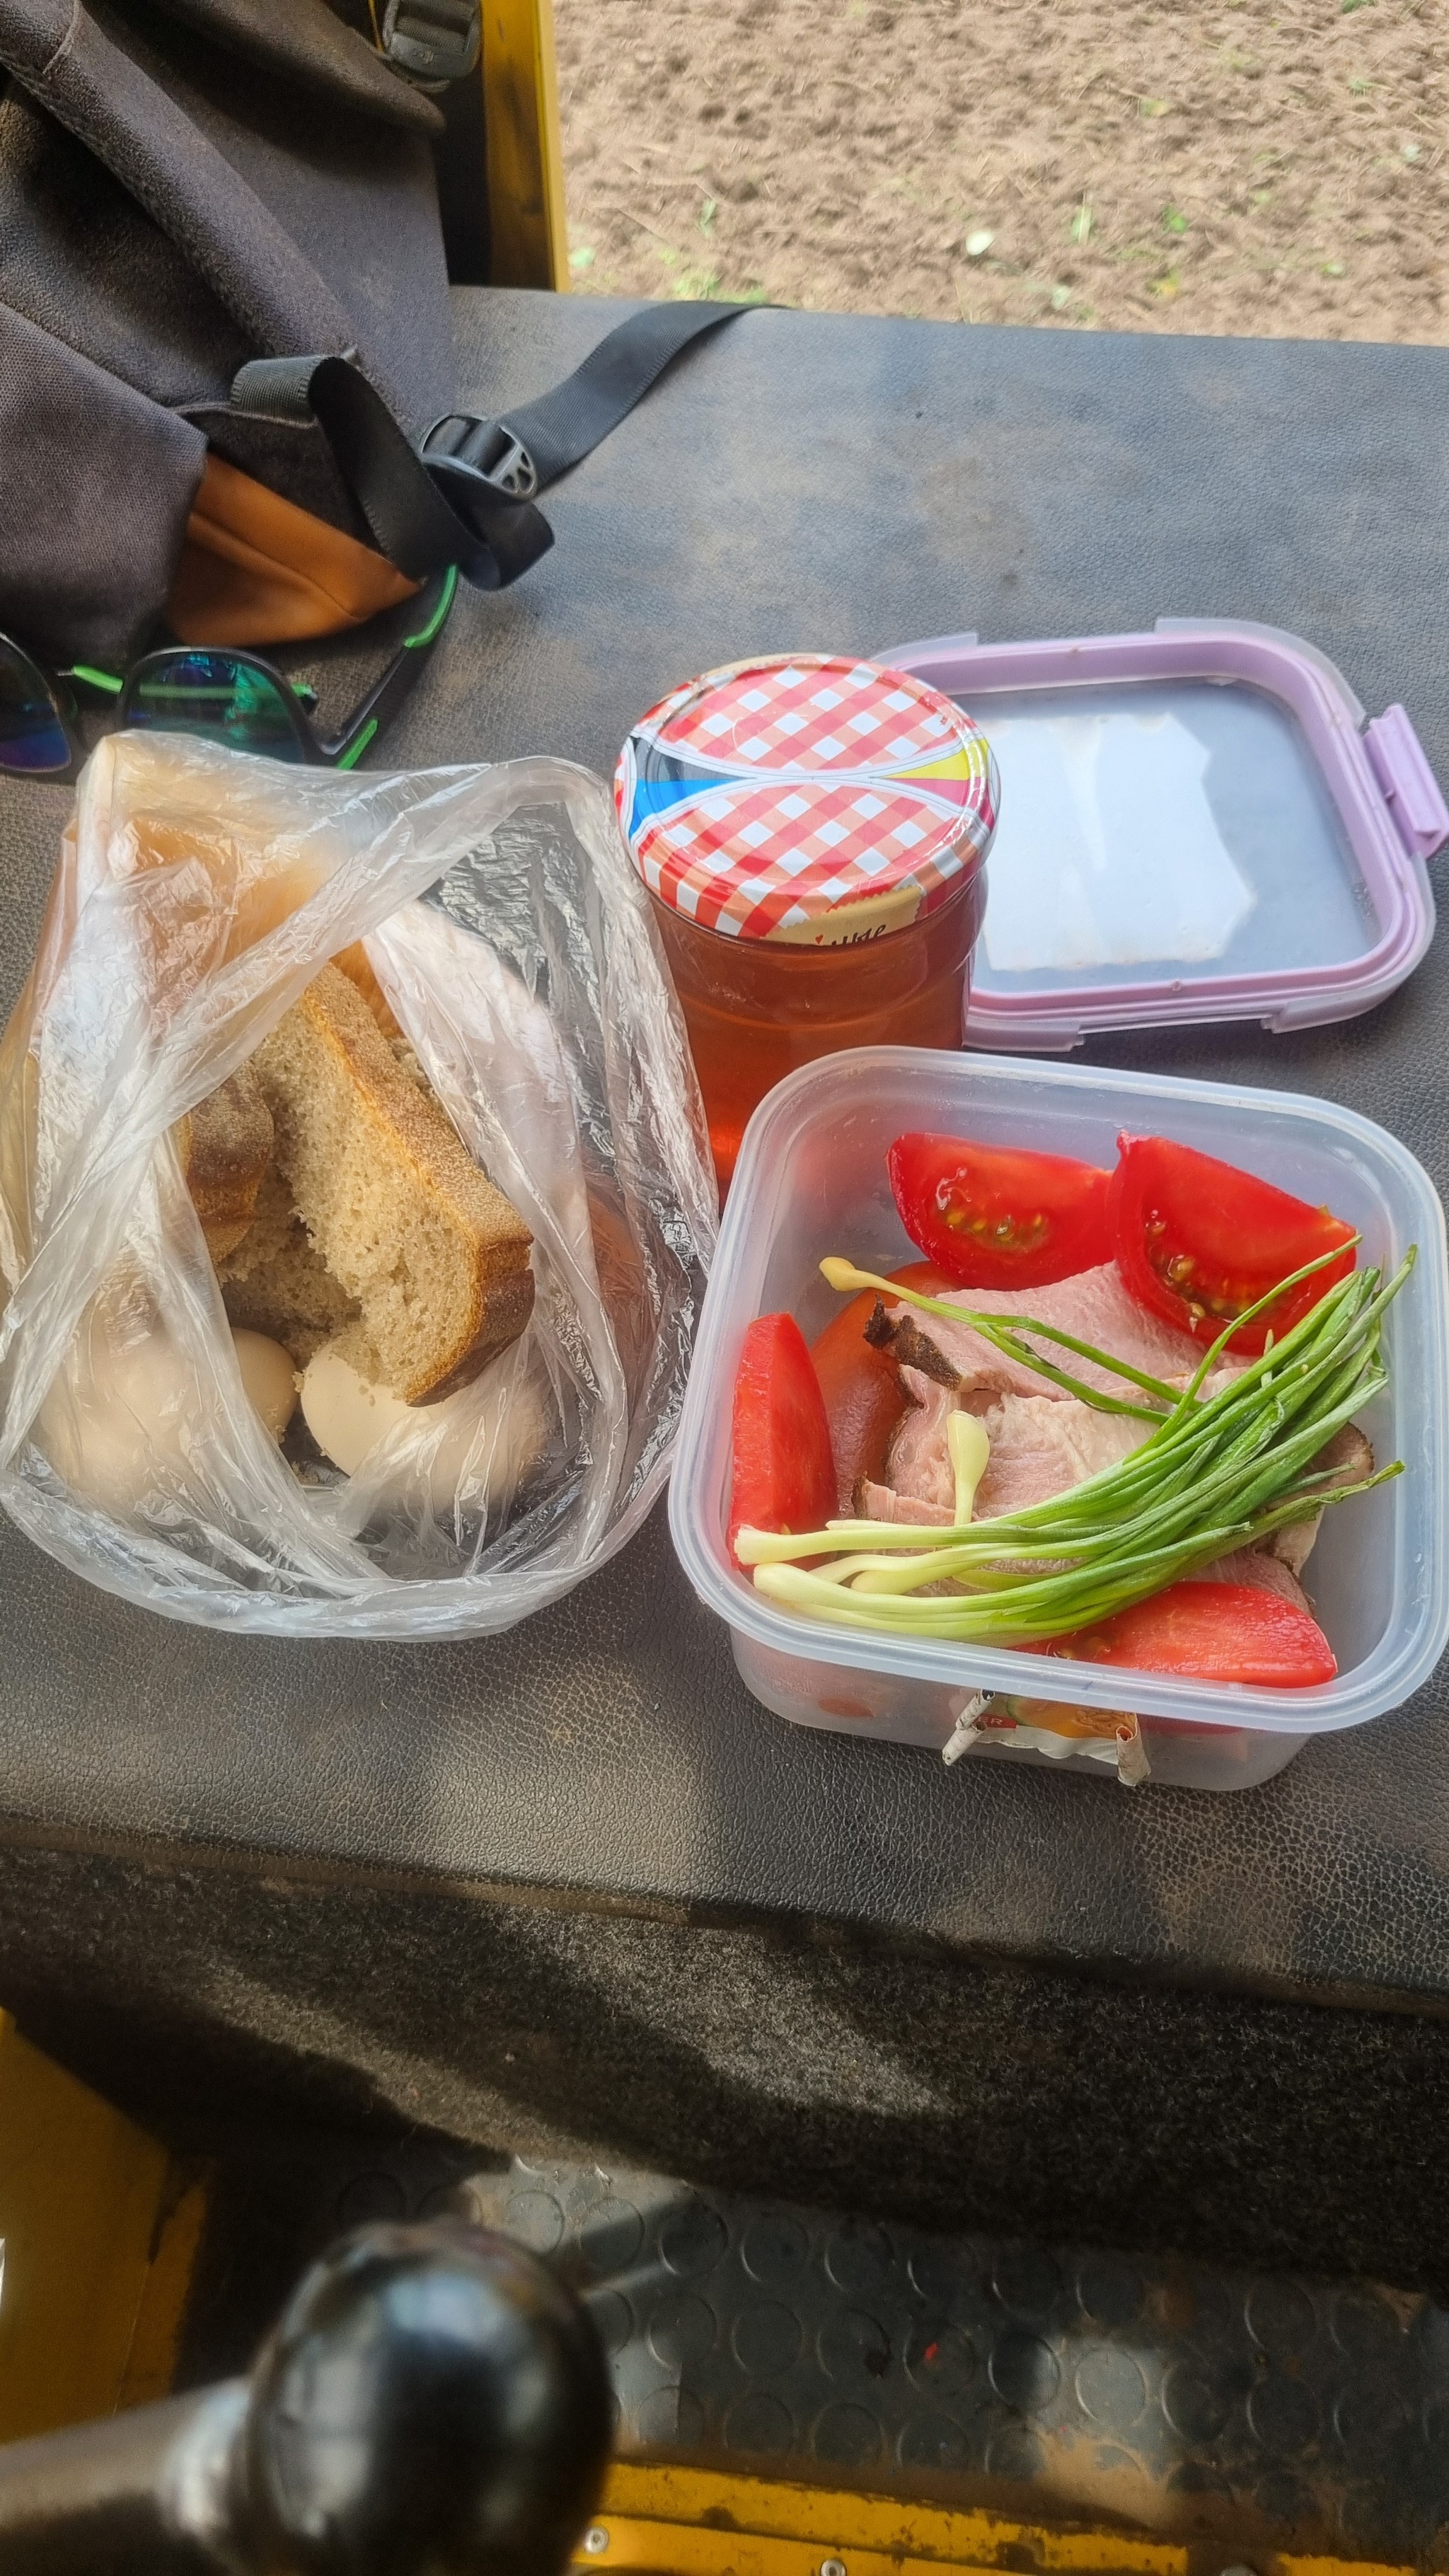
[[[345,1479],[248,1401],[173,1144],[366,940],[534,1231],[534,1316]],[[0,1502],[75,1574],[273,1636],[508,1628],[639,1528],[714,1244],[683,1023],[606,788],[559,760],[340,778],[119,734],[0,1046]]]

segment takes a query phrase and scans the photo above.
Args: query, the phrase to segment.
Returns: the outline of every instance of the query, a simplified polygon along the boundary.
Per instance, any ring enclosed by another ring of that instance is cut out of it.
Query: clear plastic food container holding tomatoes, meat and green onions
[[[1176,1136],[1328,1203],[1359,1226],[1369,1262],[1392,1270],[1418,1244],[1418,1267],[1385,1324],[1390,1391],[1361,1417],[1374,1455],[1403,1458],[1405,1473],[1328,1512],[1305,1569],[1338,1656],[1333,1682],[1281,1692],[1073,1664],[1073,1700],[1101,1734],[1062,1731],[1034,1723],[1026,1705],[1042,1708],[1036,1656],[846,1636],[773,1607],[730,1561],[730,1409],[745,1327],[786,1309],[815,1337],[838,1311],[817,1267],[828,1252],[882,1273],[913,1257],[884,1172],[905,1128],[1101,1164],[1111,1164],[1122,1128]],[[1444,1216],[1423,1167],[1385,1128],[1294,1092],[869,1046],[789,1074],[750,1118],[683,1404],[670,1533],[694,1589],[730,1625],[745,1687],[797,1726],[938,1752],[990,1692],[1000,1716],[975,1736],[972,1757],[1104,1777],[1104,1757],[1122,1752],[1114,1734],[1132,1734],[1137,1772],[1145,1759],[1152,1780],[1253,1788],[1310,1736],[1382,1718],[1434,1672],[1449,1641],[1446,1427]],[[1124,1718],[1116,1731],[1114,1710]]]

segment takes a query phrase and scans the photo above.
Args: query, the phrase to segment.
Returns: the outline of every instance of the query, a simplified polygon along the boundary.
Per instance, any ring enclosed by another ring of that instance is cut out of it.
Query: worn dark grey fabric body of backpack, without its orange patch
[[[366,536],[320,433],[229,420],[248,358],[351,350],[410,435],[451,407],[441,118],[325,0],[0,0],[0,90],[5,70],[0,314],[46,335],[46,374],[26,399],[34,343],[5,327],[0,629],[126,659],[170,590],[199,433]]]

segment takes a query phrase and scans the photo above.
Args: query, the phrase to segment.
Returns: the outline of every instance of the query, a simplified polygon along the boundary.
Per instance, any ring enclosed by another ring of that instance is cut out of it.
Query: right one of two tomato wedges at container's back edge
[[[1341,1244],[1341,1260],[1232,1334],[1230,1350],[1258,1358],[1269,1332],[1281,1342],[1336,1280],[1348,1278],[1354,1226],[1328,1208],[1310,1208],[1271,1180],[1168,1136],[1119,1136],[1116,1149],[1109,1213],[1122,1278],[1140,1306],[1178,1332],[1214,1342],[1235,1314]]]

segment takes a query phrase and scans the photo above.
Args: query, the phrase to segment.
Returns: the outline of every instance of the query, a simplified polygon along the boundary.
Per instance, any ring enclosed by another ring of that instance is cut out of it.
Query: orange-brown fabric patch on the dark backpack
[[[183,644],[294,644],[364,626],[420,587],[356,536],[206,456],[165,616]]]

